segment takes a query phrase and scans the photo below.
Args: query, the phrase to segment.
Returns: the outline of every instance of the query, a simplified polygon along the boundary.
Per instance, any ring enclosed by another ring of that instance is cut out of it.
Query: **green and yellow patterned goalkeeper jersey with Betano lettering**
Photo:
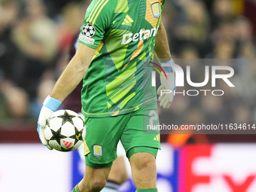
[[[126,114],[157,101],[151,72],[164,2],[91,2],[78,40],[96,49],[81,90],[86,117]]]

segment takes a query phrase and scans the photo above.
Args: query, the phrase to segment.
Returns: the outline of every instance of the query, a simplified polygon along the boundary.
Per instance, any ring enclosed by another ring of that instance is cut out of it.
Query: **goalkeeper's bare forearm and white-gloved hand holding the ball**
[[[60,75],[50,96],[47,96],[47,98],[44,100],[44,105],[41,108],[38,117],[37,130],[41,142],[49,149],[52,148],[50,145],[48,145],[47,140],[44,137],[44,126],[46,124],[46,120],[51,114],[53,114],[53,111],[56,111],[69,93],[72,93],[75,87],[77,87],[77,85],[81,82],[82,78],[84,78],[94,53],[94,49],[85,44],[79,43],[75,56],[69,62],[69,65],[66,67],[64,72],[62,72],[62,75]]]

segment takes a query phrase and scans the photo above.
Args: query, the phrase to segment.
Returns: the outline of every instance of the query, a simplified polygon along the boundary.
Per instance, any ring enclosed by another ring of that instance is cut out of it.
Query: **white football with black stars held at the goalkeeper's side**
[[[73,151],[84,142],[84,120],[75,111],[55,111],[44,128],[44,136],[50,147],[57,151]]]

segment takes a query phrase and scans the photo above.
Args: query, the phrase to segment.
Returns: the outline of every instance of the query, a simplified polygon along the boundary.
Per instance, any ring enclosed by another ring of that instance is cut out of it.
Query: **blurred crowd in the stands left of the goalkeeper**
[[[0,127],[38,118],[89,3],[0,0]]]

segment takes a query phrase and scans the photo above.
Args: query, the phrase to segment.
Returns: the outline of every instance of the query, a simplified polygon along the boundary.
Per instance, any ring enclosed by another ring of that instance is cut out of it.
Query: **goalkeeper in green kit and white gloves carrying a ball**
[[[87,9],[78,50],[45,99],[38,118],[39,136],[47,145],[43,132],[47,118],[84,78],[86,169],[74,192],[102,190],[117,158],[119,140],[130,160],[136,191],[157,191],[155,159],[160,136],[158,131],[146,134],[145,127],[159,123],[156,90],[151,86],[154,51],[160,62],[172,62],[160,22],[164,2],[93,0]],[[172,68],[165,70],[167,79],[161,79],[158,93],[175,88]],[[159,99],[168,108],[173,95]]]

